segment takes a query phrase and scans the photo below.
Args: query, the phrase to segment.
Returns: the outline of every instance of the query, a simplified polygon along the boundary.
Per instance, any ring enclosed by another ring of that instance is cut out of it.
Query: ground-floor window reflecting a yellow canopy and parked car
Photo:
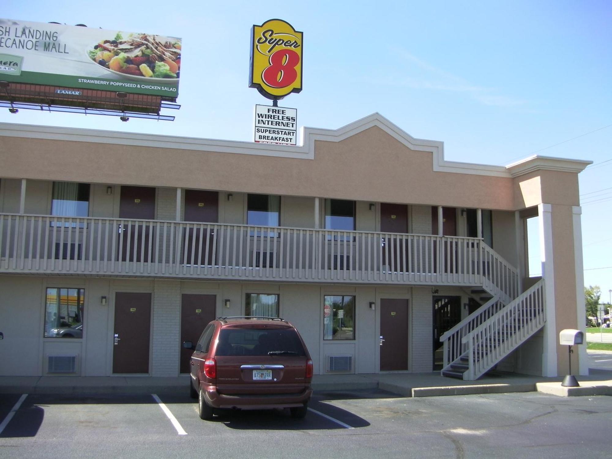
[[[83,338],[83,288],[47,288],[45,338]]]

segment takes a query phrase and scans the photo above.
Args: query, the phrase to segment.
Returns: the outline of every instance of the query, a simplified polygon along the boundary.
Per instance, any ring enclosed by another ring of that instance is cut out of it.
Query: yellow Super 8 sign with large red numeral
[[[253,25],[248,86],[268,99],[302,91],[302,35],[280,19]]]

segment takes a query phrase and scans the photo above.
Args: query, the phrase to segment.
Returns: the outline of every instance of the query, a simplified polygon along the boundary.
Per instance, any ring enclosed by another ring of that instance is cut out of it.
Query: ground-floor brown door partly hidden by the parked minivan
[[[182,346],[191,341],[195,346],[207,324],[215,319],[215,295],[183,294],[181,297],[181,373],[189,373],[191,349]]]

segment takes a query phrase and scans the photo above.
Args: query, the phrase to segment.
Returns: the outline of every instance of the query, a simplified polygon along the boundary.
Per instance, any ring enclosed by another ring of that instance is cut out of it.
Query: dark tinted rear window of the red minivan
[[[305,357],[306,351],[293,329],[226,328],[219,334],[215,356]]]

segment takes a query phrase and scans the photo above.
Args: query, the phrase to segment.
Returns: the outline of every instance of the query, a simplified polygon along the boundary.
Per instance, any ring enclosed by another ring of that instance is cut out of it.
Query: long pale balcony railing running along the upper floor
[[[480,239],[0,214],[0,272],[487,285],[516,270]]]

